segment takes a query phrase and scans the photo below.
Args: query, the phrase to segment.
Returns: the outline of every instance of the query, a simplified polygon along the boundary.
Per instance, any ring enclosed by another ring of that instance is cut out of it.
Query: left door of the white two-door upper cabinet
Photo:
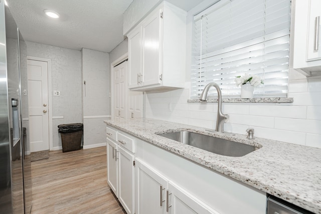
[[[141,46],[141,27],[139,27],[128,35],[129,89],[141,85]]]

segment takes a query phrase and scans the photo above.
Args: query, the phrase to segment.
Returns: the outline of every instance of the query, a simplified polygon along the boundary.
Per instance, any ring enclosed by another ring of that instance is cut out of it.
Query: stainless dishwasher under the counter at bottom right
[[[267,197],[267,214],[312,214],[308,210],[269,195]]]

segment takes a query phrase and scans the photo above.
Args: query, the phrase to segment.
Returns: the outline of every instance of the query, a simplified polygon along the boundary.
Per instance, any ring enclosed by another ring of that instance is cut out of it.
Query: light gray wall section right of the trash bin
[[[103,120],[110,115],[110,69],[107,53],[82,49],[84,148],[106,145]]]

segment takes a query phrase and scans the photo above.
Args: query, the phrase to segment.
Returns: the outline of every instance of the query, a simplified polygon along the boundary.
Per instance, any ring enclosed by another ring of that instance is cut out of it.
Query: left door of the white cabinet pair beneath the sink
[[[167,179],[137,158],[135,163],[136,214],[166,213]]]

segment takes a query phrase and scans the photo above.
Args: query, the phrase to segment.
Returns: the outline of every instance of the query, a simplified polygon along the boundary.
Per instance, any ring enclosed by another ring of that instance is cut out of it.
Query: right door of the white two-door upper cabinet
[[[161,83],[161,13],[150,14],[142,25],[143,86]]]

